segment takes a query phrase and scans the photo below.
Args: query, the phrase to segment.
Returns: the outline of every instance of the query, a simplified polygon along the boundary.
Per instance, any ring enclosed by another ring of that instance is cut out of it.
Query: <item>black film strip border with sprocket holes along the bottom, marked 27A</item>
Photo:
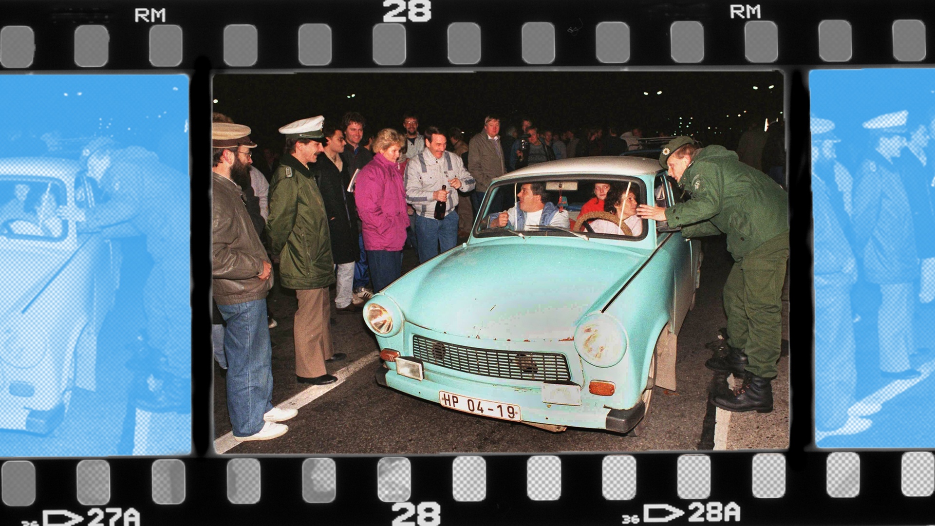
[[[520,506],[561,519],[570,512],[559,513],[550,503],[581,499],[597,505],[593,511],[598,515],[606,512],[612,519],[618,513],[632,523],[665,522],[684,515],[694,517],[689,521],[796,519],[802,524],[830,524],[840,523],[842,517],[853,519],[855,512],[868,523],[888,523],[894,509],[899,509],[896,515],[901,518],[922,518],[926,510],[930,517],[933,506],[931,452],[810,454],[804,469],[798,466],[804,459],[782,453],[719,457],[717,461],[698,454],[8,460],[0,471],[3,515],[26,523],[38,522],[37,509],[61,516],[54,520],[44,516],[42,524],[61,524],[68,514],[87,513],[81,506],[105,506],[114,513],[132,509],[144,515],[155,515],[159,508],[158,516],[167,523],[206,503],[236,506],[237,517],[241,510],[245,514],[238,523],[246,523],[253,513],[303,504],[326,504],[307,508],[316,513],[337,505],[347,523],[358,523],[354,515],[368,504],[408,503],[413,509],[418,504],[418,513],[429,516],[428,524],[436,523],[431,516],[451,504],[457,505],[458,513],[467,514],[462,519],[472,513],[482,519],[492,507],[502,506],[508,508],[503,512]],[[223,480],[226,484],[219,484]],[[43,487],[40,494],[37,485]],[[71,510],[62,507],[67,503],[73,504]],[[809,516],[790,503],[808,507]]]

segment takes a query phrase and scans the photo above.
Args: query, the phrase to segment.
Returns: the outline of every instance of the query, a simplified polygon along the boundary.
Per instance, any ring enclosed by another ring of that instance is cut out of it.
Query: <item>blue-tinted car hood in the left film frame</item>
[[[15,270],[4,280],[0,316],[9,319],[15,311],[22,311],[55,277],[71,254],[69,251],[0,251],[0,269]]]

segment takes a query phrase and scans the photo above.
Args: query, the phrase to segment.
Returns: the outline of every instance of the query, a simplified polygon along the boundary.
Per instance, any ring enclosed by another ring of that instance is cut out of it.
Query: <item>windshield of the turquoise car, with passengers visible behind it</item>
[[[607,207],[608,197],[617,206]],[[562,175],[497,183],[487,191],[474,234],[568,237],[581,232],[583,240],[638,241],[645,237],[647,220],[636,215],[636,207],[645,202],[645,184],[636,177]]]

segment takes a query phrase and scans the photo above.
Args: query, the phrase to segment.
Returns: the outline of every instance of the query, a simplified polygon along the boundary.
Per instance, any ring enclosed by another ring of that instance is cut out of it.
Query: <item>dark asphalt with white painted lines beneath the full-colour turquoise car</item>
[[[295,295],[281,290],[274,291],[270,297],[271,310],[279,321],[279,327],[270,331],[273,341],[273,403],[291,401],[290,406],[301,405],[299,414],[286,422],[289,432],[280,438],[237,444],[229,433],[231,425],[224,398],[225,372],[215,364],[215,447],[219,452],[240,455],[710,449],[714,446],[712,428],[715,418],[708,403],[709,389],[727,387],[726,375],[717,376],[704,367],[705,359],[712,356],[712,351],[704,344],[716,339],[718,328],[726,324],[721,291],[733,261],[726,252],[724,237],[706,238],[703,242],[705,259],[696,307],[686,316],[679,334],[678,390],[672,392],[656,387],[652,423],[643,436],[574,428],[557,433],[543,431],[522,423],[445,409],[438,403],[380,387],[374,380],[374,372],[380,367],[380,359],[377,358],[379,347],[359,313],[332,312],[336,320],[332,325],[336,351],[348,354],[344,361],[327,364],[328,372],[338,375],[338,383],[324,387],[297,384],[292,344]],[[414,251],[405,251],[404,271],[413,268],[416,259]],[[787,293],[784,298],[788,298]],[[787,312],[786,301],[784,338],[788,338]],[[781,362],[781,372],[788,371],[787,359],[783,358],[785,361]],[[778,383],[784,385],[777,386]],[[787,373],[781,373],[774,386],[776,409],[768,415],[744,414],[754,419],[756,425],[744,426],[740,440],[728,441],[727,448],[738,444],[755,448],[787,447]],[[709,416],[707,419],[706,415]]]

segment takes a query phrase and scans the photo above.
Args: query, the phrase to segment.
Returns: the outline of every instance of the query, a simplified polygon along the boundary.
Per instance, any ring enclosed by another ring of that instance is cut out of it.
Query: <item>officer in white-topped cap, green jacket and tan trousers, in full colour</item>
[[[321,115],[282,126],[286,136],[280,166],[269,186],[266,232],[274,257],[280,258],[281,285],[295,289],[295,377],[321,386],[338,381],[325,370],[325,361],[347,357],[335,353],[331,342],[331,304],[328,287],[335,283],[328,216],[322,193],[309,168],[324,152]]]

